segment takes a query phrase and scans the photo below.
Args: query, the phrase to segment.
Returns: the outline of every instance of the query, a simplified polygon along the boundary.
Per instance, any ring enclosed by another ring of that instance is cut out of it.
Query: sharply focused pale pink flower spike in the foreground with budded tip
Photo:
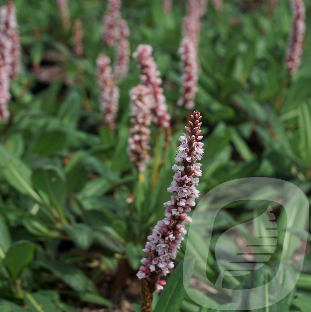
[[[183,236],[186,234],[182,222],[192,221],[187,212],[191,211],[191,207],[195,206],[195,199],[199,197],[196,189],[199,178],[193,176],[202,174],[201,164],[196,163],[204,152],[204,144],[200,142],[203,138],[200,135],[200,119],[200,113],[194,111],[189,122],[190,126],[185,128],[188,136],[184,134],[179,139],[181,144],[175,161],[180,164],[172,167],[175,175],[171,186],[167,188],[167,191],[174,195],[170,201],[164,203],[165,218],[158,221],[152,234],[148,236],[148,242],[143,250],[148,256],[141,260],[143,265],[137,273],[139,279],[147,278],[148,282],[154,283],[155,288],[159,290],[165,285],[165,280],[161,280],[160,276],[167,275],[169,269],[174,267],[171,259],[176,258]]]

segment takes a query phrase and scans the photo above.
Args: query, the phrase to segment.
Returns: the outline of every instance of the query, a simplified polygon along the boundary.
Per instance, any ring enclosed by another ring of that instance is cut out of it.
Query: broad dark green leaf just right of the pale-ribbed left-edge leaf
[[[52,207],[65,221],[65,182],[54,169],[38,169],[32,175],[34,187],[38,190],[45,204]]]

